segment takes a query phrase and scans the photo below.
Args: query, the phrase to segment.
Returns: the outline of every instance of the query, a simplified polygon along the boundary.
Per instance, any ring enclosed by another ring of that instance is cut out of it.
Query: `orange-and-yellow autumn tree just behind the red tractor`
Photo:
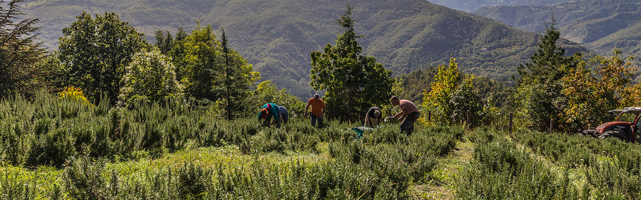
[[[563,131],[576,131],[612,121],[608,110],[621,104],[637,106],[633,99],[638,94],[632,92],[635,86],[626,87],[634,71],[626,60],[632,58],[620,58],[620,53],[620,50],[615,50],[611,58],[595,56],[589,62],[580,55],[576,56],[577,65],[569,67],[562,79],[562,91],[567,96],[567,106],[561,115]]]

